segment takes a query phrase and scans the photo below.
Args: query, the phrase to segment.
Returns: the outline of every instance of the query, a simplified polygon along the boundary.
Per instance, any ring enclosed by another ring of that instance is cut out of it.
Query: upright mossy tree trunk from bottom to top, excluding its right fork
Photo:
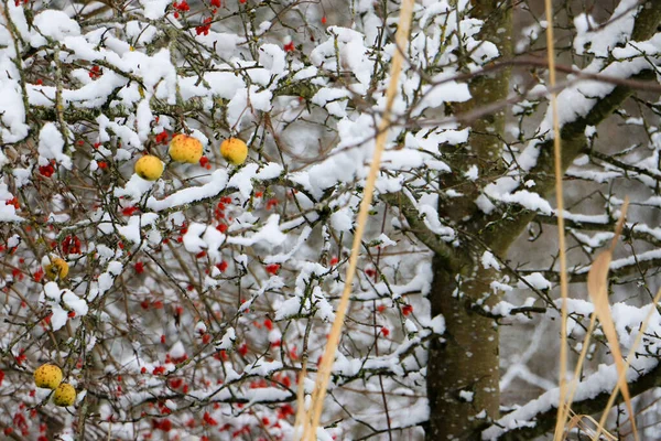
[[[511,1],[474,0],[472,4],[470,15],[485,20],[480,40],[494,43],[501,58],[510,58]],[[509,80],[509,68],[473,79],[469,84],[473,98],[456,105],[454,110],[467,112],[506,99]],[[453,175],[441,185],[457,189],[463,197],[440,202],[438,213],[463,228],[470,228],[467,225],[470,220],[465,219],[475,214],[474,201],[480,192],[479,184],[466,180],[464,172],[477,166],[479,176],[488,176],[502,170],[505,118],[505,110],[500,110],[476,119],[470,126],[468,146],[458,152],[447,152]],[[495,271],[481,266],[484,249],[466,248],[456,265],[448,266],[441,258],[433,261],[432,315],[442,314],[446,330],[442,341],[431,343],[429,352],[426,439],[430,441],[479,439],[479,428],[498,418],[498,327],[492,319],[472,310],[478,302],[489,305],[499,300],[490,289]]]

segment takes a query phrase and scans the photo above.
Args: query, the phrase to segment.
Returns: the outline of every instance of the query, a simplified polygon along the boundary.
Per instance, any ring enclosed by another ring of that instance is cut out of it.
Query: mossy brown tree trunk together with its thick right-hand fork
[[[473,0],[472,4],[475,7],[472,17],[485,20],[481,39],[495,43],[501,56],[511,56],[511,3]],[[639,13],[632,40],[650,39],[660,21],[661,2],[647,4]],[[642,79],[649,74],[650,72],[641,73],[637,77]],[[509,77],[509,71],[502,71],[474,79],[470,83],[473,99],[457,108],[459,111],[468,111],[506,98]],[[618,86],[598,101],[586,117],[563,127],[563,170],[584,151],[586,126],[604,121],[630,94],[629,88]],[[525,209],[517,213],[512,209],[508,216],[502,216],[502,213],[486,216],[477,212],[473,201],[479,194],[479,187],[462,181],[460,171],[476,164],[479,175],[484,176],[501,166],[498,161],[503,122],[505,115],[497,114],[480,118],[472,125],[469,149],[464,155],[456,155],[459,159],[452,163],[454,176],[442,183],[457,187],[465,196],[440,202],[438,206],[442,216],[454,220],[470,234],[479,234],[481,244],[499,257],[506,256],[510,245],[534,218],[534,213]],[[542,146],[538,165],[529,176],[537,183],[534,191],[544,197],[553,191],[552,148],[551,141]],[[469,244],[463,244],[458,251],[460,257],[455,259],[437,256],[433,260],[434,282],[430,293],[432,315],[443,314],[446,331],[443,338],[430,344],[429,349],[430,422],[425,432],[429,441],[479,440],[481,428],[488,424],[489,419],[498,417],[498,329],[494,320],[473,312],[476,303],[488,305],[499,300],[489,288],[496,275],[492,269],[484,269],[480,265],[484,248],[467,248]]]

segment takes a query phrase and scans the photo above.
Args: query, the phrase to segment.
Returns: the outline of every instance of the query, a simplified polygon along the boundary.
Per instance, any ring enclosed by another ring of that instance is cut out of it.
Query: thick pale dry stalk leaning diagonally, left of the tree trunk
[[[377,180],[377,174],[380,169],[381,153],[383,152],[383,148],[386,146],[388,128],[390,126],[390,114],[392,105],[394,103],[394,97],[398,93],[399,77],[404,61],[403,56],[407,53],[407,45],[409,43],[411,17],[413,14],[413,3],[414,0],[404,0],[400,10],[399,25],[395,34],[395,43],[398,45],[399,51],[395,51],[392,57],[392,65],[390,68],[390,84],[388,85],[388,90],[386,92],[386,108],[383,110],[383,118],[379,123],[371,166],[365,184],[365,192],[364,198],[360,203],[360,211],[358,212],[358,222],[356,225],[356,233],[354,235],[354,244],[351,246],[351,256],[349,258],[349,263],[345,278],[345,288],[339,304],[337,306],[335,322],[333,323],[330,334],[328,335],[328,342],[326,344],[326,349],[322,358],[322,364],[317,370],[316,383],[312,395],[311,408],[306,411],[302,421],[303,441],[313,441],[316,439],[316,431],[319,424],[319,419],[324,407],[324,399],[326,397],[326,388],[328,387],[328,380],[330,378],[330,369],[333,367],[333,362],[335,361],[335,353],[337,351],[337,345],[339,344],[339,336],[342,334],[342,329],[344,325],[344,320],[349,303],[349,295],[351,293],[351,283],[356,275],[358,254],[360,250],[362,234],[365,232],[365,225],[367,223],[367,217],[372,201],[375,182]],[[301,381],[303,379],[301,378]],[[299,394],[297,405],[300,409],[305,406],[304,400],[302,398],[302,394]],[[300,433],[300,429],[297,427],[296,433]]]

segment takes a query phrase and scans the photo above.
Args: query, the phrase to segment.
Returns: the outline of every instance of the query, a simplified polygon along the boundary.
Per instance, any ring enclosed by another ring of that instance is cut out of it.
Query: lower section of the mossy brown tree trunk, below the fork
[[[485,293],[487,303],[496,300],[489,297],[494,275],[473,269],[472,280],[463,283],[463,276],[434,266],[432,314],[443,314],[446,330],[430,346],[427,440],[479,439],[480,427],[498,416],[498,327],[470,309]]]

